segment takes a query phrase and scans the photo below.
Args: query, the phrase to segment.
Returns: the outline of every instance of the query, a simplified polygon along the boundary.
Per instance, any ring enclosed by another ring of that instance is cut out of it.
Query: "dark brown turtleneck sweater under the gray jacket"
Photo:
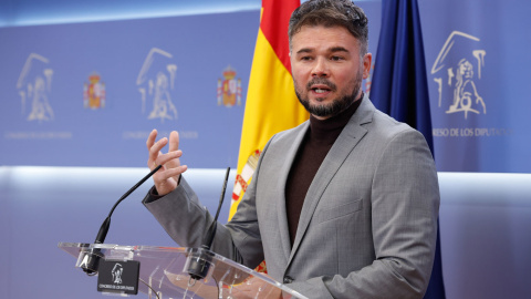
[[[350,107],[327,120],[321,121],[310,116],[310,128],[299,147],[285,184],[285,209],[292,246],[310,184],[335,140],[362,103],[362,99],[363,93]]]

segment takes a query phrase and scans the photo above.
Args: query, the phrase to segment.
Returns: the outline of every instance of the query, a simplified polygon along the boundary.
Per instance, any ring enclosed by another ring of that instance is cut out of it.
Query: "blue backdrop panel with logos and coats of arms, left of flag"
[[[258,25],[252,11],[0,29],[0,165],[144,166],[153,128],[179,131],[194,167],[236,165]]]

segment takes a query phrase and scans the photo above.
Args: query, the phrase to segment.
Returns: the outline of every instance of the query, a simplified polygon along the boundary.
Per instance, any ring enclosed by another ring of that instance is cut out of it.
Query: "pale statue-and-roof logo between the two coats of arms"
[[[142,113],[146,113],[146,102],[152,109],[148,120],[177,120],[173,91],[177,65],[171,63],[173,55],[164,50],[153,48],[142,65],[136,85],[142,95]]]

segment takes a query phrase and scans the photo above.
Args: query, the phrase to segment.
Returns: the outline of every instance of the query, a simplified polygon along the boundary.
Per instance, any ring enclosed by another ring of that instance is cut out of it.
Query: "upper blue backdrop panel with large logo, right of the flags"
[[[419,7],[438,169],[531,172],[531,3]]]

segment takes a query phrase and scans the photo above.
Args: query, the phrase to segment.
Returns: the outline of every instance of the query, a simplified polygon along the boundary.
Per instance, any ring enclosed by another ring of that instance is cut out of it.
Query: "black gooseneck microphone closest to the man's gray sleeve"
[[[210,251],[210,247],[212,246],[214,237],[216,236],[216,224],[218,223],[219,212],[221,210],[221,205],[223,204],[225,192],[227,190],[227,182],[229,181],[229,173],[230,167],[227,167],[227,173],[225,174],[225,183],[221,189],[221,197],[219,198],[218,210],[216,212],[214,221],[207,229],[207,234],[202,239],[201,247],[198,249],[189,249],[190,255],[188,256],[185,269],[187,269],[188,275],[194,280],[204,279],[207,276],[208,270],[210,269],[210,264],[214,257],[214,252]]]

